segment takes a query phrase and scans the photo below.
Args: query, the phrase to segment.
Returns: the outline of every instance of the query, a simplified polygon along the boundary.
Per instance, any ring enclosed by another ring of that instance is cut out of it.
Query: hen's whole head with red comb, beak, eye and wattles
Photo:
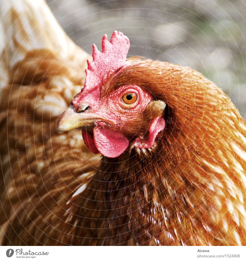
[[[127,148],[152,148],[157,134],[165,128],[165,102],[131,80],[136,76],[134,70],[124,70],[131,65],[126,61],[129,47],[129,39],[117,31],[110,42],[104,35],[102,52],[93,45],[84,88],[57,124],[60,132],[81,128],[87,147],[109,158]]]

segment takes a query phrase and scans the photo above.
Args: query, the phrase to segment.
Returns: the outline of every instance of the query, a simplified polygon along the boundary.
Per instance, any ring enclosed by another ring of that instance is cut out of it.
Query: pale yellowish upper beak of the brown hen
[[[86,126],[96,121],[105,121],[109,124],[115,124],[114,121],[105,119],[97,113],[76,113],[73,108],[68,107],[59,117],[56,130],[58,132],[68,131]]]

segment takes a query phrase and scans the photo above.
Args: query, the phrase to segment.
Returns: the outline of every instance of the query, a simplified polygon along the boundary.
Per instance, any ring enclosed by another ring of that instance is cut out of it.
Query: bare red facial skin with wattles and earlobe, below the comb
[[[127,93],[137,95],[136,101],[132,104],[126,104],[122,99],[124,94]],[[153,100],[154,98],[150,93],[137,85],[123,85],[108,96],[103,97],[96,106],[94,104],[94,108],[87,109],[85,112],[97,114],[106,119],[105,121],[94,120],[93,135],[90,131],[82,131],[87,147],[93,153],[101,152],[103,155],[112,158],[121,155],[128,148],[129,142],[137,148],[151,148],[156,135],[165,127],[163,118],[158,117],[149,125],[149,130],[146,130],[146,132],[149,132],[149,139],[143,141],[140,136],[137,136],[133,140],[133,136],[142,127],[143,112]],[[81,102],[82,104],[90,104],[87,99]],[[75,111],[79,109],[80,105],[74,106]],[[130,131],[133,123],[137,124],[137,128],[139,128],[135,129],[136,133]]]

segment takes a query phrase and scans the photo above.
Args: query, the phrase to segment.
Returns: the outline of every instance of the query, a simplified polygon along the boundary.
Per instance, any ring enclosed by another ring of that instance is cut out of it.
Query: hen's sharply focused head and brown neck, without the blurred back
[[[128,49],[116,31],[101,53],[93,46],[84,88],[57,125],[81,128],[103,155],[69,202],[82,206],[82,244],[245,245],[245,121],[200,73],[125,61]]]

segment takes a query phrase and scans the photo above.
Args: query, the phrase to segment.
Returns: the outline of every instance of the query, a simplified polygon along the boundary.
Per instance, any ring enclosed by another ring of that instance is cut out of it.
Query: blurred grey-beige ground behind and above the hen
[[[113,30],[128,55],[192,67],[214,81],[246,119],[245,0],[47,0],[65,32],[88,53]]]

